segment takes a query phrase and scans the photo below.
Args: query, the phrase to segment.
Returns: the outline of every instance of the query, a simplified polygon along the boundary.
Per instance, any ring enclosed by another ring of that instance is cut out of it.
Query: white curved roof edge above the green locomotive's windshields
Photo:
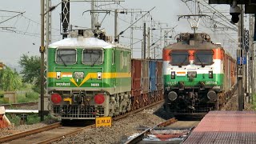
[[[50,48],[58,48],[58,47],[90,47],[90,48],[98,48],[102,47],[104,49],[109,49],[109,48],[122,48],[122,49],[127,49],[130,50],[126,46],[122,46],[118,43],[110,43],[103,41],[102,39],[98,38],[85,38],[85,37],[79,37],[79,38],[65,38],[62,39],[58,42],[54,42],[49,45]]]

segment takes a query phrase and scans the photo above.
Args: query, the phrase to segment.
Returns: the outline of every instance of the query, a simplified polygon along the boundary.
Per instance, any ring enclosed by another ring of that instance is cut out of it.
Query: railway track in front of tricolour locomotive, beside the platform
[[[175,118],[170,118],[166,122],[147,128],[125,144],[181,143],[198,123],[199,121],[178,121]]]

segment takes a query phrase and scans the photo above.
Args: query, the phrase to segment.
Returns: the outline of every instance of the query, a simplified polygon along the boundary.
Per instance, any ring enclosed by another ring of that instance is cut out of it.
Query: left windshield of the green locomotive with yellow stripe
[[[58,49],[56,50],[55,62],[63,65],[73,65],[77,62],[77,50]]]

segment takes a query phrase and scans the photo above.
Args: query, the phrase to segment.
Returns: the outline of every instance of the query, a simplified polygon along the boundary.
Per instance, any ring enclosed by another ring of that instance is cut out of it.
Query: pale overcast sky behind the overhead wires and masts
[[[60,0],[52,0],[52,5],[58,4]],[[108,4],[109,2],[102,2],[99,4]],[[190,25],[185,19],[178,21],[178,15],[189,14],[189,10],[181,0],[126,0],[121,2],[121,6],[126,9],[141,9],[150,10],[154,6],[154,10],[150,12],[153,16],[154,21],[164,23],[162,27],[174,27],[176,32],[192,32]],[[102,9],[116,8],[116,5],[102,6]],[[121,8],[118,6],[118,8]],[[16,31],[6,31],[0,29],[0,62],[18,66],[18,60],[22,54],[39,55],[38,48],[40,46],[40,0],[8,0],[1,2],[0,10],[11,10],[24,12],[22,16],[13,18],[8,22],[3,22],[0,27],[15,27],[11,29]],[[90,27],[90,14],[83,11],[90,10],[89,2],[72,2],[70,4],[70,24],[75,26]],[[62,37],[59,34],[59,14],[61,13],[61,6],[58,6],[56,10],[52,12],[52,27],[53,36],[52,42],[56,42]],[[6,16],[15,15],[14,13],[0,12],[0,22],[4,21]],[[104,16],[104,15],[103,15]],[[140,16],[137,16],[140,18]],[[129,26],[130,14],[119,15],[119,31],[125,30]],[[100,15],[99,21],[102,21],[102,14]],[[107,34],[114,34],[114,16],[107,15],[105,20],[102,22],[102,28],[106,29]],[[141,26],[138,22],[137,26]],[[149,25],[147,25],[149,26]],[[199,29],[204,30],[204,29]],[[130,30],[127,30],[124,36],[130,36]],[[154,37],[159,36],[155,32]],[[142,39],[142,31],[134,30],[134,38]],[[129,45],[130,41],[125,38],[121,39],[124,45]],[[136,40],[134,40],[136,42]],[[139,47],[140,45],[137,45]],[[134,46],[136,47],[136,46]],[[137,52],[134,53],[138,53]],[[140,54],[138,54],[140,55]]]

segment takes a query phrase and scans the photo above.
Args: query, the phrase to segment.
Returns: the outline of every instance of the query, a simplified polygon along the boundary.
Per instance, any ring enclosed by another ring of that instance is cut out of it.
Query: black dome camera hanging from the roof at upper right
[[[240,14],[241,14],[241,9],[240,7],[238,7],[237,1],[234,0],[232,5],[230,6],[230,15],[232,16],[230,22],[233,24],[238,23]]]

